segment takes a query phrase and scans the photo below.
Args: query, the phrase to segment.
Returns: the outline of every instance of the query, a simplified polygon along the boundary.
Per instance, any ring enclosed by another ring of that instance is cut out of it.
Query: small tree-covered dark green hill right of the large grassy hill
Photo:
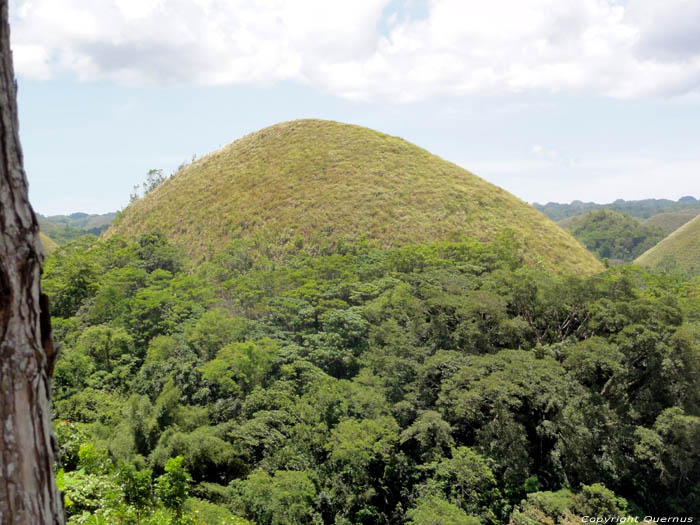
[[[564,219],[559,223],[600,259],[631,262],[666,235],[661,228],[611,210]]]

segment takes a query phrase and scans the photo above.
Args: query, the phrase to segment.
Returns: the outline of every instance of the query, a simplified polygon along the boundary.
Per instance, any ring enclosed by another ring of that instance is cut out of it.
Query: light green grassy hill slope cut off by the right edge
[[[700,217],[685,223],[635,262],[685,275],[700,274]]]

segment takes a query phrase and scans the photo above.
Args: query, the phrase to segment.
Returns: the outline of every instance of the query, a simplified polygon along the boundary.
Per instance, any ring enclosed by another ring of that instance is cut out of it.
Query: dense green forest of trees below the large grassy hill
[[[545,272],[508,234],[253,242],[46,260],[69,523],[700,515],[700,281]]]

